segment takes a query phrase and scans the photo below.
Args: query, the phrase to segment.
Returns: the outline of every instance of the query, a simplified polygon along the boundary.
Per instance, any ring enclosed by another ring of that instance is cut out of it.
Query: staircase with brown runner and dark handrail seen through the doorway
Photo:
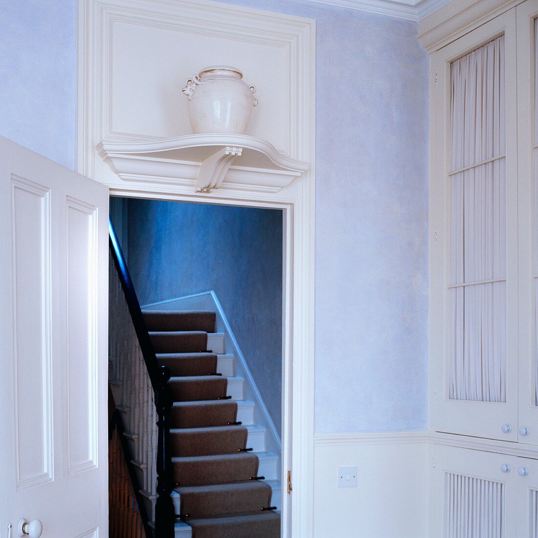
[[[111,223],[110,247],[109,387],[148,533],[160,503],[158,538],[168,529],[175,537],[280,536],[280,436],[215,293],[143,313]],[[172,375],[165,385],[159,365]],[[159,407],[166,427],[161,419],[157,427],[155,395],[163,394],[171,410],[168,418]],[[170,497],[157,495],[158,456],[159,477],[175,483]]]

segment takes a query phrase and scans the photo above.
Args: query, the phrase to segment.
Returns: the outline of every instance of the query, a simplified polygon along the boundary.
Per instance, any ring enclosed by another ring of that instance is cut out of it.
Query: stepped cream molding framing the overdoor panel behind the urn
[[[306,118],[302,90],[309,73],[310,22],[238,6],[204,0],[79,0],[79,113],[77,170],[94,177],[96,147],[103,140],[149,141],[162,137],[147,132],[125,132],[114,128],[116,104],[112,102],[114,29],[118,24],[144,26],[196,36],[219,36],[276,47],[283,55],[284,93],[279,98],[283,111],[282,147],[277,151],[294,160],[309,161],[305,146]],[[305,22],[307,22],[305,24]],[[203,66],[201,66],[203,67]],[[186,73],[186,76],[188,74]],[[183,81],[181,81],[182,83]],[[180,81],[178,80],[178,84]],[[183,97],[178,88],[177,107]],[[128,106],[122,105],[122,106]],[[177,133],[189,134],[189,133]]]

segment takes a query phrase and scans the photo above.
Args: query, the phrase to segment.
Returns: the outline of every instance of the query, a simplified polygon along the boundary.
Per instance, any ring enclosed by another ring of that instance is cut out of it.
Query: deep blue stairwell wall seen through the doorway
[[[153,200],[128,207],[140,303],[213,289],[280,431],[282,212]]]

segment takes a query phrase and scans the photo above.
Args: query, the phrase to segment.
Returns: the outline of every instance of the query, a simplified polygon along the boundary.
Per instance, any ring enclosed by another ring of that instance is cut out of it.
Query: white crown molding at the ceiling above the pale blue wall
[[[310,2],[420,22],[451,0],[419,0],[418,2],[414,0],[401,2],[395,0],[310,0]]]

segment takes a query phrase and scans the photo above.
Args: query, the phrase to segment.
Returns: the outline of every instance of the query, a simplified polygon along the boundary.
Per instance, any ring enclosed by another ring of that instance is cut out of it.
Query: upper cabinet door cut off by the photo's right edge
[[[519,441],[538,444],[538,0],[516,8],[518,29]],[[526,428],[526,429],[525,429]]]

